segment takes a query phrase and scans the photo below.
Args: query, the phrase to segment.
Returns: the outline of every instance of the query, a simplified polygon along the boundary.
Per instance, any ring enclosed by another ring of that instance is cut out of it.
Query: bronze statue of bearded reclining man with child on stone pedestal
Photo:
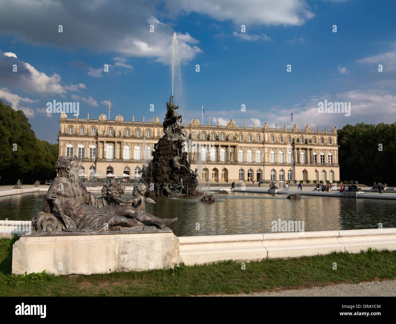
[[[103,188],[104,196],[95,197],[78,179],[76,156],[60,157],[55,167],[58,177],[44,197],[43,211],[33,219],[33,231],[150,230],[163,229],[177,220],[158,218],[133,207],[144,203],[143,196],[122,199],[124,190],[114,180]],[[139,203],[139,199],[143,201]],[[124,202],[132,205],[120,204]]]

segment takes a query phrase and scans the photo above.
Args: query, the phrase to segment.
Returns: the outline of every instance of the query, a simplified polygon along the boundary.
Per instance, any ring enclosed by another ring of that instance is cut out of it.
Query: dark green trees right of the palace
[[[396,123],[346,125],[337,133],[340,180],[396,186]]]

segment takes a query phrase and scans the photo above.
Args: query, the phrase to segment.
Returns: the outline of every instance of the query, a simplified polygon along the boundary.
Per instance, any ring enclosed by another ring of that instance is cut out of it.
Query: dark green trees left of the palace
[[[56,176],[57,157],[58,144],[36,138],[22,110],[0,101],[0,184],[44,184]]]

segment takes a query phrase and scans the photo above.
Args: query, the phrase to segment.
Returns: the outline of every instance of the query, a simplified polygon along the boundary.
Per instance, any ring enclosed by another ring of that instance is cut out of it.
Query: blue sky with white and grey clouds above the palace
[[[0,100],[22,109],[36,136],[52,143],[59,115],[47,114],[46,103],[53,100],[78,101],[80,117],[93,119],[108,114],[111,97],[110,119],[162,121],[176,32],[174,100],[185,123],[201,120],[202,104],[212,125],[232,118],[239,126],[290,128],[291,110],[299,128],[391,123],[395,12],[394,1],[368,0],[3,0]],[[351,102],[350,116],[318,113],[325,99]]]

